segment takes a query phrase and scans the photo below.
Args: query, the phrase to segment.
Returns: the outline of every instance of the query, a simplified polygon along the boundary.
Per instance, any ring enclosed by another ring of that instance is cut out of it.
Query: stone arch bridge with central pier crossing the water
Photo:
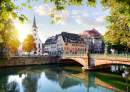
[[[101,56],[101,55],[100,55]],[[63,63],[67,61],[67,63],[71,62],[78,62],[80,63],[85,69],[97,69],[97,68],[104,68],[103,66],[111,65],[111,64],[125,64],[130,65],[129,57],[127,56],[127,60],[112,58],[112,57],[92,57],[91,55],[84,55],[84,56],[61,56],[58,58],[58,63]],[[100,67],[99,67],[100,66]]]

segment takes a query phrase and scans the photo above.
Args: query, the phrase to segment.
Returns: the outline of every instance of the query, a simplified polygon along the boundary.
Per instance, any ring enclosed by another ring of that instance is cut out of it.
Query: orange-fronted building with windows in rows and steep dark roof
[[[57,39],[57,54],[84,54],[85,43],[78,34],[62,32]]]

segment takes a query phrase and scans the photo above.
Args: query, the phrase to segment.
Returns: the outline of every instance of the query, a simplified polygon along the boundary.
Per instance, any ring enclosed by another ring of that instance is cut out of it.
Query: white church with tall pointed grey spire
[[[33,35],[33,38],[35,38],[35,43],[36,43],[36,47],[37,47],[37,51],[33,51],[32,54],[36,54],[36,55],[41,55],[42,54],[42,41],[38,36],[38,28],[36,26],[36,19],[35,19],[35,15],[34,15],[34,19],[33,19],[33,25],[32,25],[32,30],[31,33]]]

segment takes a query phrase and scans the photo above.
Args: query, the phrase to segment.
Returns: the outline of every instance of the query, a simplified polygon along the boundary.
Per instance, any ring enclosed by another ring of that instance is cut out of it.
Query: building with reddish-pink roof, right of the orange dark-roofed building
[[[88,51],[90,53],[104,52],[101,40],[102,35],[97,30],[95,30],[94,28],[92,30],[85,30],[80,36],[84,39],[84,42],[88,47]]]

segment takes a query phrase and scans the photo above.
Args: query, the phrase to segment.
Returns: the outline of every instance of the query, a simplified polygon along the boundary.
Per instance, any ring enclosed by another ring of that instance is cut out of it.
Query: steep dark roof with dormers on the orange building
[[[62,32],[61,35],[64,42],[72,42],[72,43],[76,43],[78,41],[83,42],[83,39],[78,34]]]

